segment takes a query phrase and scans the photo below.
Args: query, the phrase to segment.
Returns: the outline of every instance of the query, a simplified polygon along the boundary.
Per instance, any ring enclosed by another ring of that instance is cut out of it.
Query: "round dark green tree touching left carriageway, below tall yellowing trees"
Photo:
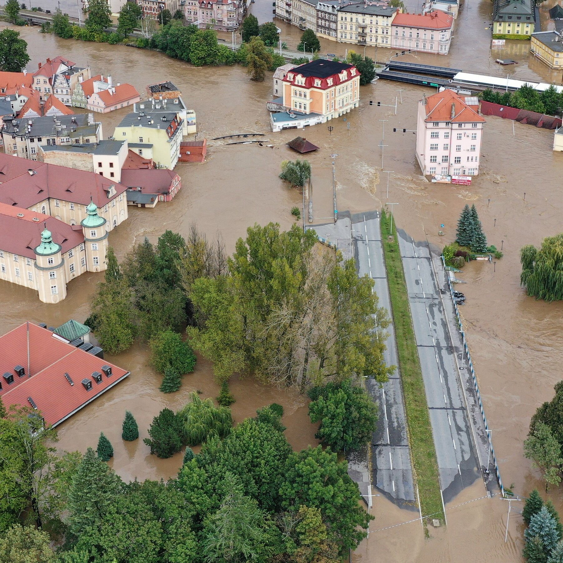
[[[377,409],[366,391],[350,379],[313,387],[309,391],[309,417],[321,422],[316,437],[336,452],[360,449],[371,440]]]

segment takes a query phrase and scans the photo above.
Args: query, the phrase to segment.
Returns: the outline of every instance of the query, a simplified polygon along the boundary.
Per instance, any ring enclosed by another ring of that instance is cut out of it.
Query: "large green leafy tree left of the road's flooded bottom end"
[[[280,488],[281,504],[286,510],[300,506],[318,508],[327,526],[329,538],[338,543],[340,555],[355,549],[366,537],[369,521],[373,519],[358,503],[358,486],[350,479],[347,463],[339,462],[336,454],[309,448],[293,452],[283,470]]]

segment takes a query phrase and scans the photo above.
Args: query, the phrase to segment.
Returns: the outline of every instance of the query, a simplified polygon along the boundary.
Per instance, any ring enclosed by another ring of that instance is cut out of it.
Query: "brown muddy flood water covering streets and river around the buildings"
[[[548,5],[548,2],[545,4]],[[550,4],[551,5],[551,4]],[[528,45],[507,45],[489,55],[491,3],[466,0],[460,12],[451,53],[447,57],[420,56],[415,62],[450,65],[454,68],[502,76],[493,61],[497,57],[520,61],[509,72],[518,78],[555,80],[536,60],[529,60]],[[407,2],[411,10],[416,8]],[[543,10],[543,6],[542,6]],[[261,21],[271,18],[271,2],[258,0],[252,6]],[[282,38],[290,46],[299,32],[277,22]],[[209,142],[207,162],[183,164],[176,168],[182,178],[182,189],[169,204],[154,209],[129,209],[129,218],[110,234],[110,244],[118,258],[144,236],[152,242],[166,229],[186,235],[189,224],[196,222],[209,237],[219,231],[232,252],[234,242],[245,234],[246,227],[258,222],[280,222],[291,225],[290,209],[302,205],[302,196],[278,179],[280,163],[295,158],[285,146],[295,131],[272,133],[265,102],[271,98],[272,83],[268,75],[263,83],[253,83],[240,66],[229,68],[193,68],[165,55],[107,44],[74,42],[38,33],[37,28],[18,28],[28,42],[32,62],[46,56],[69,57],[78,64],[89,64],[92,73],[111,74],[114,82],[130,82],[140,91],[150,83],[171,79],[183,91],[188,106],[197,112],[198,138]],[[239,38],[240,41],[240,38]],[[345,46],[322,42],[323,51],[342,53]],[[369,54],[369,53],[366,53]],[[380,50],[381,60],[393,54]],[[559,77],[561,81],[561,77]],[[402,92],[398,91],[402,89]],[[502,479],[513,484],[517,494],[526,495],[538,486],[537,471],[522,453],[530,417],[542,401],[551,399],[553,385],[561,379],[563,365],[563,306],[543,303],[526,297],[520,288],[519,251],[524,244],[538,245],[545,236],[561,232],[563,200],[560,195],[563,177],[563,154],[551,150],[553,133],[515,124],[498,118],[487,118],[482,146],[481,175],[471,186],[454,187],[430,184],[420,176],[415,163],[413,132],[393,133],[393,128],[415,129],[416,104],[429,89],[379,81],[361,88],[360,108],[333,120],[329,135],[326,125],[308,128],[308,140],[320,146],[310,155],[313,169],[313,207],[315,221],[332,215],[331,159],[336,157],[338,209],[351,212],[381,208],[386,201],[387,178],[380,172],[393,171],[389,182],[389,202],[394,206],[397,225],[414,239],[424,239],[440,247],[455,238],[455,225],[464,204],[475,203],[487,239],[504,257],[489,263],[467,265],[460,287],[467,296],[462,307],[467,339],[485,405],[487,420],[493,430],[493,441]],[[397,115],[391,108],[369,105],[369,100],[394,104],[402,95]],[[122,119],[126,110],[103,116],[104,136]],[[382,121],[385,120],[385,121]],[[384,154],[379,144],[384,131]],[[273,148],[258,145],[227,146],[212,137],[237,132],[265,133]],[[297,133],[299,134],[299,133]],[[382,178],[383,180],[383,178]],[[496,221],[495,221],[496,220]],[[440,225],[444,224],[444,229]],[[438,230],[444,237],[438,237]],[[498,270],[498,271],[496,271]],[[36,293],[9,283],[0,284],[0,318],[3,334],[25,320],[59,325],[69,318],[83,321],[89,314],[88,303],[99,274],[85,274],[68,285],[68,297],[58,305],[44,305]],[[152,417],[164,406],[182,406],[190,391],[201,390],[202,396],[215,397],[218,386],[211,367],[201,359],[193,374],[184,378],[179,391],[164,395],[158,391],[160,377],[148,366],[144,346],[109,358],[130,370],[131,376],[59,427],[61,449],[84,451],[96,446],[103,431],[114,444],[112,465],[125,479],[165,479],[178,470],[181,455],[161,460],[149,455],[141,440],[134,444],[121,441],[121,422],[125,410],[131,410],[139,422],[141,437],[147,436]],[[259,385],[252,379],[233,381],[231,390],[236,403],[232,406],[237,421],[251,416],[256,408],[276,401],[285,408],[287,437],[295,449],[316,444],[315,428],[307,416],[307,401],[294,391],[279,391]],[[563,489],[562,489],[563,490]],[[416,518],[415,512],[397,508],[383,496],[374,499],[371,533],[357,552],[354,561],[520,561],[523,525],[513,512],[504,543],[507,506],[498,497],[485,495],[482,481],[465,489],[447,508],[446,528],[431,529],[425,539],[420,522],[395,526]],[[551,498],[563,510],[563,495],[553,490]],[[479,500],[473,500],[479,499]],[[468,502],[473,501],[473,502]],[[517,505],[518,503],[515,503]],[[458,506],[459,505],[459,506]],[[389,526],[395,526],[389,528]],[[385,528],[385,529],[383,529]],[[471,556],[469,554],[471,553]]]

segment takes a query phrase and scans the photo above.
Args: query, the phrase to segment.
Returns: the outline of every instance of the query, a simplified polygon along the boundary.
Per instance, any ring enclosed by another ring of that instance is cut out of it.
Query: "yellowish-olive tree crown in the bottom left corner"
[[[55,563],[49,534],[15,524],[0,537],[0,563]]]

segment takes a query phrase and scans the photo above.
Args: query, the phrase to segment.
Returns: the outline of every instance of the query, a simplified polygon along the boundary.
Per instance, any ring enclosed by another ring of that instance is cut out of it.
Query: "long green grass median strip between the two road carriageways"
[[[397,231],[393,226],[393,235],[390,237],[389,225],[389,217],[382,211],[381,238],[385,267],[387,268],[389,295],[391,296],[393,325],[397,339],[398,364],[405,397],[414,478],[418,485],[420,507],[424,516],[442,512],[438,462],[436,461],[436,448],[432,437],[432,426],[426,403],[420,359],[416,349],[413,321],[410,315],[409,294],[405,282]],[[444,520],[443,512],[440,519]]]

